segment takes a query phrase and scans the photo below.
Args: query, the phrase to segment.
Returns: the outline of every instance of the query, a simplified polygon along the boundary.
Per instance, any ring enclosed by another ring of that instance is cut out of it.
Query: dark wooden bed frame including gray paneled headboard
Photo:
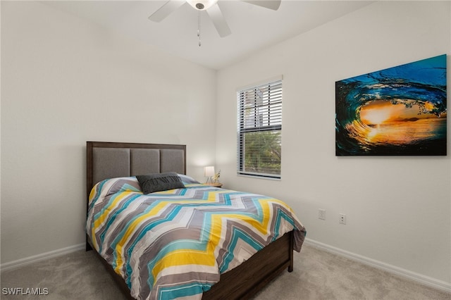
[[[92,187],[111,177],[147,173],[177,172],[186,174],[186,146],[175,144],[140,144],[121,142],[87,142],[87,198]],[[288,232],[233,270],[221,275],[202,299],[248,299],[276,278],[283,270],[293,270],[293,232]],[[86,236],[86,251],[92,250]],[[118,282],[128,299],[130,289],[104,258],[97,253],[106,269]]]

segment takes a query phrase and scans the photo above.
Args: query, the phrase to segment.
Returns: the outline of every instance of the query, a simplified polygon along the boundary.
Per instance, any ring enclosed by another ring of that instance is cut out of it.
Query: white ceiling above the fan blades
[[[238,0],[219,0],[218,5],[232,34],[219,37],[209,16],[202,11],[202,46],[199,46],[198,13],[189,4],[183,4],[161,23],[154,23],[148,17],[165,4],[165,0],[42,1],[109,30],[152,44],[174,56],[216,70],[372,2],[282,0],[278,11],[272,11]]]

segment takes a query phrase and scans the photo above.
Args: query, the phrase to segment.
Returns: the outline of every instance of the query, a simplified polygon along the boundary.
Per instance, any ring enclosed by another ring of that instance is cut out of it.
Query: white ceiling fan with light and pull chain
[[[241,1],[277,11],[280,6],[281,0]],[[163,6],[161,6],[157,11],[152,13],[152,15],[149,16],[149,20],[152,20],[154,22],[161,22],[169,14],[171,14],[173,11],[175,11],[185,3],[190,4],[190,6],[199,11],[199,13],[200,11],[206,11],[206,13],[208,13],[209,17],[213,21],[214,27],[216,27],[216,31],[218,32],[220,37],[226,37],[230,35],[230,28],[228,27],[226,19],[224,18],[223,13],[218,6],[218,0],[169,0],[166,2],[166,4],[163,4]],[[199,35],[199,32],[197,35]]]

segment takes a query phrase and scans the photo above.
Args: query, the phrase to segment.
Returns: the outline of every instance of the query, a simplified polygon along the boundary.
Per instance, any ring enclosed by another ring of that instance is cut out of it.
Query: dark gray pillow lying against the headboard
[[[175,172],[137,175],[136,179],[140,183],[141,190],[144,194],[185,187]]]

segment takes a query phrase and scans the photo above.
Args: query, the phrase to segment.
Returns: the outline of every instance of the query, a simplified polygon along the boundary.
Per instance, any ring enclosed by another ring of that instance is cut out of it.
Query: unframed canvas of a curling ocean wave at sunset
[[[336,156],[445,156],[446,54],[335,82]]]

